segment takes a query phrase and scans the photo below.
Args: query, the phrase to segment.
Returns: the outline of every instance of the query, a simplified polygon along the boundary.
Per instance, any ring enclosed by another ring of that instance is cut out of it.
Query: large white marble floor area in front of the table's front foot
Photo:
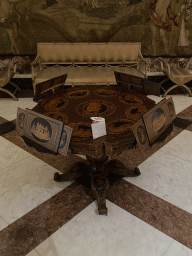
[[[35,250],[42,256],[162,256],[172,238],[107,201],[108,216],[93,202]]]

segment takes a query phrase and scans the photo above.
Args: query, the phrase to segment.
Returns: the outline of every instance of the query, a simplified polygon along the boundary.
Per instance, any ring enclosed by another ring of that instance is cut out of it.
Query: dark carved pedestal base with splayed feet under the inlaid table
[[[54,180],[61,182],[66,180],[78,179],[80,177],[88,176],[91,179],[91,190],[94,193],[97,203],[99,214],[107,214],[106,195],[109,189],[109,174],[119,174],[127,177],[139,176],[139,168],[130,170],[126,168],[122,162],[118,160],[108,160],[107,156],[101,158],[92,158],[87,156],[88,163],[83,162],[75,163],[71,170],[65,174],[54,174]]]

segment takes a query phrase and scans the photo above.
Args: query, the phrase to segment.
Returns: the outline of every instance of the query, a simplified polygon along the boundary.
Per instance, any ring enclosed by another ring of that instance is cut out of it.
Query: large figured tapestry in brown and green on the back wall
[[[0,55],[38,42],[142,42],[144,56],[192,56],[192,0],[0,0]]]

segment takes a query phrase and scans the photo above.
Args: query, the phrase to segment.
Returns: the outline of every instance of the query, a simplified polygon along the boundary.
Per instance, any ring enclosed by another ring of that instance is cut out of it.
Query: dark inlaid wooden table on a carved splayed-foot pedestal
[[[74,87],[41,100],[33,110],[72,127],[70,148],[87,158],[87,164],[78,162],[67,173],[55,173],[54,180],[88,177],[99,214],[107,214],[105,198],[110,175],[140,175],[139,168],[128,169],[111,158],[135,145],[135,136],[130,128],[154,105],[155,102],[145,95],[115,86]],[[90,117],[105,118],[107,135],[93,140]]]

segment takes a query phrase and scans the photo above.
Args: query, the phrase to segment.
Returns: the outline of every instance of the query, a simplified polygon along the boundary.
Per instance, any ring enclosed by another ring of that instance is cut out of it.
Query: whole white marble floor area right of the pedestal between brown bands
[[[139,166],[142,175],[124,179],[192,214],[191,145],[183,131]]]

